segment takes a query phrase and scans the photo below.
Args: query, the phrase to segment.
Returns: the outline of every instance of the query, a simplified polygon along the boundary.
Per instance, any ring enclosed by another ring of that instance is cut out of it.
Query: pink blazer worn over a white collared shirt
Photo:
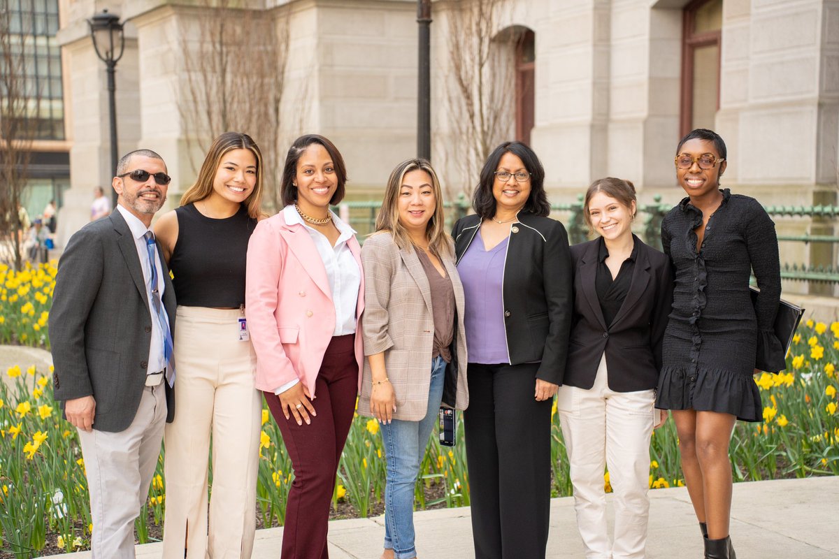
[[[347,245],[362,267],[355,237]],[[335,332],[326,268],[303,225],[286,224],[283,212],[258,223],[248,242],[245,308],[257,354],[256,387],[274,391],[299,379],[315,397],[315,378]],[[364,274],[356,307],[356,360],[361,386],[364,358],[361,316]]]

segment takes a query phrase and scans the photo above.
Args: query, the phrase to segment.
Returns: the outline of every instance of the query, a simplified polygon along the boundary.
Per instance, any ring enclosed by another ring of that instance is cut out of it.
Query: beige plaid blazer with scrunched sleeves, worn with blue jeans
[[[452,254],[454,251],[452,250]],[[466,389],[466,333],[464,297],[452,256],[442,258],[455,292],[455,335],[452,360],[446,367],[443,402],[463,410],[469,404]],[[394,419],[420,421],[428,410],[434,317],[425,269],[414,250],[400,250],[388,233],[373,235],[362,246],[365,308],[362,314],[364,355],[384,352],[388,379],[396,393]],[[372,416],[370,393],[373,375],[364,360],[358,413]]]

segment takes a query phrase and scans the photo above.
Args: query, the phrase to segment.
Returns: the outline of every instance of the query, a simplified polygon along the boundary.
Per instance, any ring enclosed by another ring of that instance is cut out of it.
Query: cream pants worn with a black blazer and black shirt
[[[654,391],[610,390],[603,355],[591,390],[560,386],[557,398],[586,559],[644,559]],[[611,545],[603,489],[605,466],[614,491],[615,532]]]

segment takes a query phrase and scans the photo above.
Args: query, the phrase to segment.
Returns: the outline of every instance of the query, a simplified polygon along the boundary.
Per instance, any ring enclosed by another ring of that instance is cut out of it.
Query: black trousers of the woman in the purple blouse
[[[551,400],[538,363],[467,370],[463,412],[476,559],[543,559],[550,515]]]

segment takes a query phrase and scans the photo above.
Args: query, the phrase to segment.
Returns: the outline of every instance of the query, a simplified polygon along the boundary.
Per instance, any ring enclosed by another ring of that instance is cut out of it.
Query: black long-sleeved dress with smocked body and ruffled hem
[[[700,251],[702,212],[683,199],[664,217],[661,241],[675,270],[655,406],[721,411],[763,421],[756,366],[784,361],[772,329],[781,291],[774,222],[756,199],[722,189]],[[760,293],[752,304],[750,272]],[[758,365],[756,365],[756,363]]]

